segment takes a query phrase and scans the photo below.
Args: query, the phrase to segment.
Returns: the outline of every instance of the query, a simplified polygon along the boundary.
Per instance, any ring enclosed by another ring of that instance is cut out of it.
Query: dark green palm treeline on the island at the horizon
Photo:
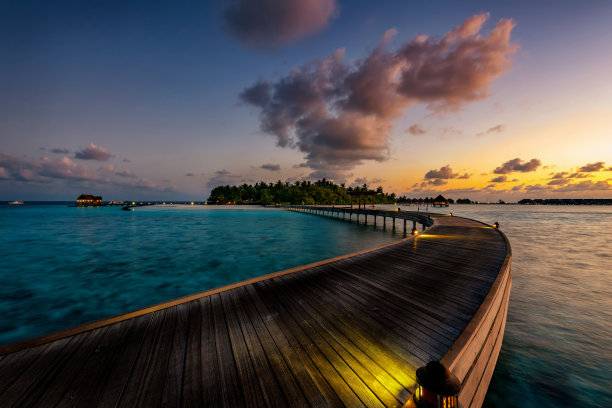
[[[375,190],[368,188],[366,184],[360,187],[346,186],[345,184],[335,184],[326,179],[311,181],[265,183],[259,182],[254,185],[242,184],[239,186],[219,186],[215,187],[208,197],[208,202],[216,204],[292,204],[292,205],[350,205],[356,204],[360,198],[358,194],[370,194],[366,197],[361,196],[361,201],[367,200],[368,204],[372,199],[376,204],[394,203],[433,203],[433,197],[407,198],[405,196],[396,197],[394,193],[385,193],[382,187]],[[453,204],[454,200],[448,200]],[[457,200],[458,204],[472,203],[469,199]]]

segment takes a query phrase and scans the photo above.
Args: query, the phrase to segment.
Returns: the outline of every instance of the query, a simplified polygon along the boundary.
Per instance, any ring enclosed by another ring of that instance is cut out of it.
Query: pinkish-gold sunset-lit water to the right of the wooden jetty
[[[612,407],[612,207],[451,206],[498,221],[512,293],[483,407]]]

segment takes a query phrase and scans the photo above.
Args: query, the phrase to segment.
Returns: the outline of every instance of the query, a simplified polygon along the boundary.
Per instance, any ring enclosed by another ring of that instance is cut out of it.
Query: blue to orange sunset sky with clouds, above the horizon
[[[2,1],[0,200],[612,198],[612,2]]]

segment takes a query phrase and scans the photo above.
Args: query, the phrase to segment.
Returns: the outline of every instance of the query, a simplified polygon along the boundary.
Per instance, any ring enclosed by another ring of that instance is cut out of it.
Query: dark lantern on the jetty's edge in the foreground
[[[419,386],[404,408],[459,408],[461,383],[439,361],[430,361],[416,372]]]

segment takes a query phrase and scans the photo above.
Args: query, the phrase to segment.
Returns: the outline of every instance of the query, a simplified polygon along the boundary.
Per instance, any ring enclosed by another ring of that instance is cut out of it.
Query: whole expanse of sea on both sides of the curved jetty
[[[512,244],[508,323],[484,406],[612,407],[612,208],[442,211],[498,221]],[[0,205],[0,344],[382,245],[400,232],[260,207]]]

